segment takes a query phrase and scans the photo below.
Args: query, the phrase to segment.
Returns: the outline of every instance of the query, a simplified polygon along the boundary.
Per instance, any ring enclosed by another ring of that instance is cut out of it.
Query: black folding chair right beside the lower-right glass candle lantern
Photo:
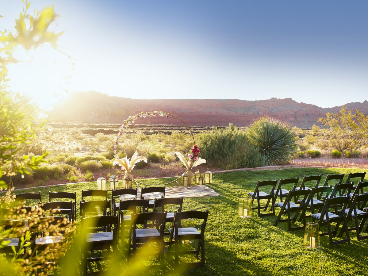
[[[348,231],[347,219],[346,219],[346,213],[345,213],[345,209],[348,204],[349,204],[349,199],[347,197],[326,198],[326,202],[322,208],[322,212],[312,214],[313,221],[315,219],[318,220],[318,225],[319,225],[320,230],[321,230],[322,223],[327,224],[328,232],[325,232],[319,235],[320,236],[329,235],[331,245],[336,245],[340,243],[350,244],[350,237],[349,237],[349,231]],[[341,211],[339,213],[329,212],[330,206],[336,206],[336,205],[342,206]],[[331,231],[332,222],[336,222],[336,226],[333,231]],[[346,238],[339,240],[339,241],[333,241],[332,238],[336,237],[336,234],[337,234],[337,231],[339,230],[339,226],[341,222],[343,222],[342,231],[344,230],[346,232]]]

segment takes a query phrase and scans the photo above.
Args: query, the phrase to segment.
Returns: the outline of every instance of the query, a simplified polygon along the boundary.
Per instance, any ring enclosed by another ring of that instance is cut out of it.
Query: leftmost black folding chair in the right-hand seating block
[[[252,201],[254,201],[254,199],[257,200],[257,207],[252,207],[252,209],[257,209],[258,210],[258,216],[268,216],[268,215],[275,215],[275,209],[273,208],[273,194],[276,188],[276,184],[277,184],[277,179],[276,180],[265,180],[265,181],[259,181],[257,182],[257,185],[255,187],[254,192],[248,192],[248,195],[250,195],[252,197]],[[265,187],[265,186],[271,186],[271,191],[270,194],[267,194],[264,191],[260,191],[259,188],[260,187]],[[267,199],[267,203],[265,206],[261,206],[260,201],[263,199]],[[261,214],[261,209],[264,208],[264,212],[267,212],[267,208],[268,205],[271,202],[271,208],[270,211],[271,213],[263,213]]]

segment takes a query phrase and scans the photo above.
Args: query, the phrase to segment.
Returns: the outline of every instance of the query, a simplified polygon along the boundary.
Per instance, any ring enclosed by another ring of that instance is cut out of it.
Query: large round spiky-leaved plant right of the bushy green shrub
[[[265,164],[285,164],[298,153],[291,125],[267,116],[255,120],[247,130],[248,141],[259,148]]]

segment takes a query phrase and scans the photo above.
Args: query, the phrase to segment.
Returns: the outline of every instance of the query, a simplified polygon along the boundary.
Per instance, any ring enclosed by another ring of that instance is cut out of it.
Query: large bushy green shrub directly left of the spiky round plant
[[[223,169],[238,167],[259,167],[263,160],[259,149],[248,142],[247,135],[240,128],[229,124],[227,128],[214,127],[198,135],[200,157],[210,166]]]

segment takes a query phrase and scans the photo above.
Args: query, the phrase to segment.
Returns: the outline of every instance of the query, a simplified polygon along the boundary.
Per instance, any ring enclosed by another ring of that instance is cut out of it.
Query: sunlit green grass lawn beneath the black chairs
[[[167,267],[147,271],[147,274],[184,275],[368,275],[368,240],[358,242],[355,231],[350,232],[351,244],[329,245],[328,236],[321,237],[321,247],[308,250],[302,245],[304,230],[287,231],[287,223],[273,224],[276,216],[259,218],[253,212],[251,219],[238,217],[238,198],[254,191],[257,180],[300,177],[304,175],[358,172],[358,169],[284,169],[273,171],[237,171],[214,174],[208,186],[221,194],[219,197],[185,198],[183,210],[209,210],[205,231],[206,265],[190,268],[182,273],[173,268],[173,257],[167,258]],[[145,180],[145,183],[165,183],[168,179]],[[299,184],[301,179],[299,180]],[[49,191],[76,191],[95,189],[96,183],[61,185],[16,191],[41,191],[44,202]],[[291,187],[288,187],[291,188]],[[79,208],[79,203],[78,203]],[[276,215],[279,208],[276,208]],[[77,214],[77,216],[79,213]],[[311,219],[307,219],[307,222]],[[350,222],[352,225],[352,222]],[[322,226],[325,232],[326,226]],[[125,259],[121,270],[130,271]]]

